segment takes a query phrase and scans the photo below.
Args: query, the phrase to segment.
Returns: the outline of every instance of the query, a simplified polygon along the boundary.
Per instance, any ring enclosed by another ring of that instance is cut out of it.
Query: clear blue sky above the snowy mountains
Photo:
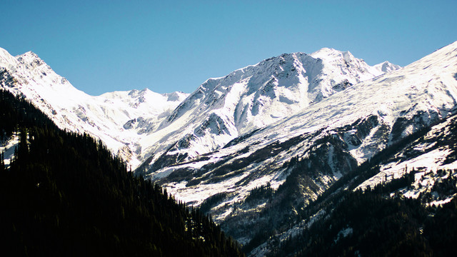
[[[91,95],[190,93],[209,77],[322,47],[405,66],[457,41],[456,10],[456,0],[2,0],[0,47],[34,51]]]

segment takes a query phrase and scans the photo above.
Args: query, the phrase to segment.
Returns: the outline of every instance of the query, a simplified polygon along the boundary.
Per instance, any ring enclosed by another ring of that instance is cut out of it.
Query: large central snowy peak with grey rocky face
[[[381,64],[386,71],[398,69]],[[298,114],[308,106],[383,74],[349,52],[282,54],[208,79],[141,140],[149,163],[170,165],[219,149],[238,136]],[[165,144],[164,144],[165,143]],[[153,167],[156,170],[159,167]]]

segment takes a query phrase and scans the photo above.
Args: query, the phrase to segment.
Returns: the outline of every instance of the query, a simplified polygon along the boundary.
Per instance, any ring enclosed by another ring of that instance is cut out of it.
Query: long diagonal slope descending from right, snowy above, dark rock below
[[[211,153],[173,165],[159,158],[149,176],[204,207],[245,244],[266,228],[288,226],[338,178],[386,146],[456,113],[456,56],[457,42]],[[251,198],[261,186],[273,194]]]

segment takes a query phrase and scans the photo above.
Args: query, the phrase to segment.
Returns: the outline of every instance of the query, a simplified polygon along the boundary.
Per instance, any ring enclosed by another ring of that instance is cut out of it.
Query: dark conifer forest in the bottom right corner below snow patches
[[[323,206],[326,214],[301,234],[273,242],[280,247],[271,256],[454,256],[457,198],[443,207],[426,207],[420,198],[390,197],[411,182],[413,172],[365,191],[348,191],[334,206]]]

